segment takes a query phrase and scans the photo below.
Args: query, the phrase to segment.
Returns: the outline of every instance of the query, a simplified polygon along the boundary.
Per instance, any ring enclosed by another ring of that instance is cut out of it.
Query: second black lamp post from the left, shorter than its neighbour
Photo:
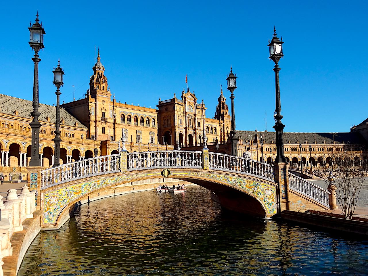
[[[60,59],[59,59],[59,63],[57,64],[56,69],[54,68],[54,71],[52,71],[54,73],[54,85],[56,86],[56,119],[55,119],[55,138],[54,140],[54,149],[55,149],[55,153],[54,153],[54,166],[59,166],[60,165],[60,142],[61,142],[61,138],[60,138],[60,86],[64,84],[63,82],[63,75],[64,75],[64,71],[63,68],[60,67]],[[83,135],[82,135],[82,143],[83,143]]]

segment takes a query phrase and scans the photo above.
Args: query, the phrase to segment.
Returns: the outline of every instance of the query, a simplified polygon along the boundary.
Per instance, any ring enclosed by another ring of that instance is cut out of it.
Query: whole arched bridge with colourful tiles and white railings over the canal
[[[227,208],[259,217],[284,209],[329,209],[329,191],[294,174],[287,164],[270,166],[237,156],[203,151],[150,151],[98,156],[31,173],[38,190],[42,227],[60,227],[71,206],[93,192],[149,178],[176,178],[213,192]],[[166,174],[163,173],[164,169]]]

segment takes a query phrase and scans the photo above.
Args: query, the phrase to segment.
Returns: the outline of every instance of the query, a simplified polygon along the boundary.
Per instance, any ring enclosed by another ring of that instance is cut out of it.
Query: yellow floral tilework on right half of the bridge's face
[[[263,183],[260,181],[249,180],[241,177],[232,177],[224,174],[214,173],[188,173],[188,175],[216,180],[226,184],[230,184],[237,189],[243,190],[247,194],[256,198],[261,202],[268,215],[277,213],[277,193],[276,185]]]

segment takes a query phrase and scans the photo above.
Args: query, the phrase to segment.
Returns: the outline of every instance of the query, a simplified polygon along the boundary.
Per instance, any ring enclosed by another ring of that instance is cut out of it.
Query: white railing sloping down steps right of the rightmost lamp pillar
[[[289,188],[329,207],[329,191],[289,172]]]

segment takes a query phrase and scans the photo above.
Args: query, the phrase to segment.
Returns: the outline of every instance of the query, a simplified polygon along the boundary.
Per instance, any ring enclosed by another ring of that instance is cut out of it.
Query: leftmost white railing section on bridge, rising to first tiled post
[[[84,177],[120,171],[120,154],[82,159],[40,171],[41,187],[65,183]]]

